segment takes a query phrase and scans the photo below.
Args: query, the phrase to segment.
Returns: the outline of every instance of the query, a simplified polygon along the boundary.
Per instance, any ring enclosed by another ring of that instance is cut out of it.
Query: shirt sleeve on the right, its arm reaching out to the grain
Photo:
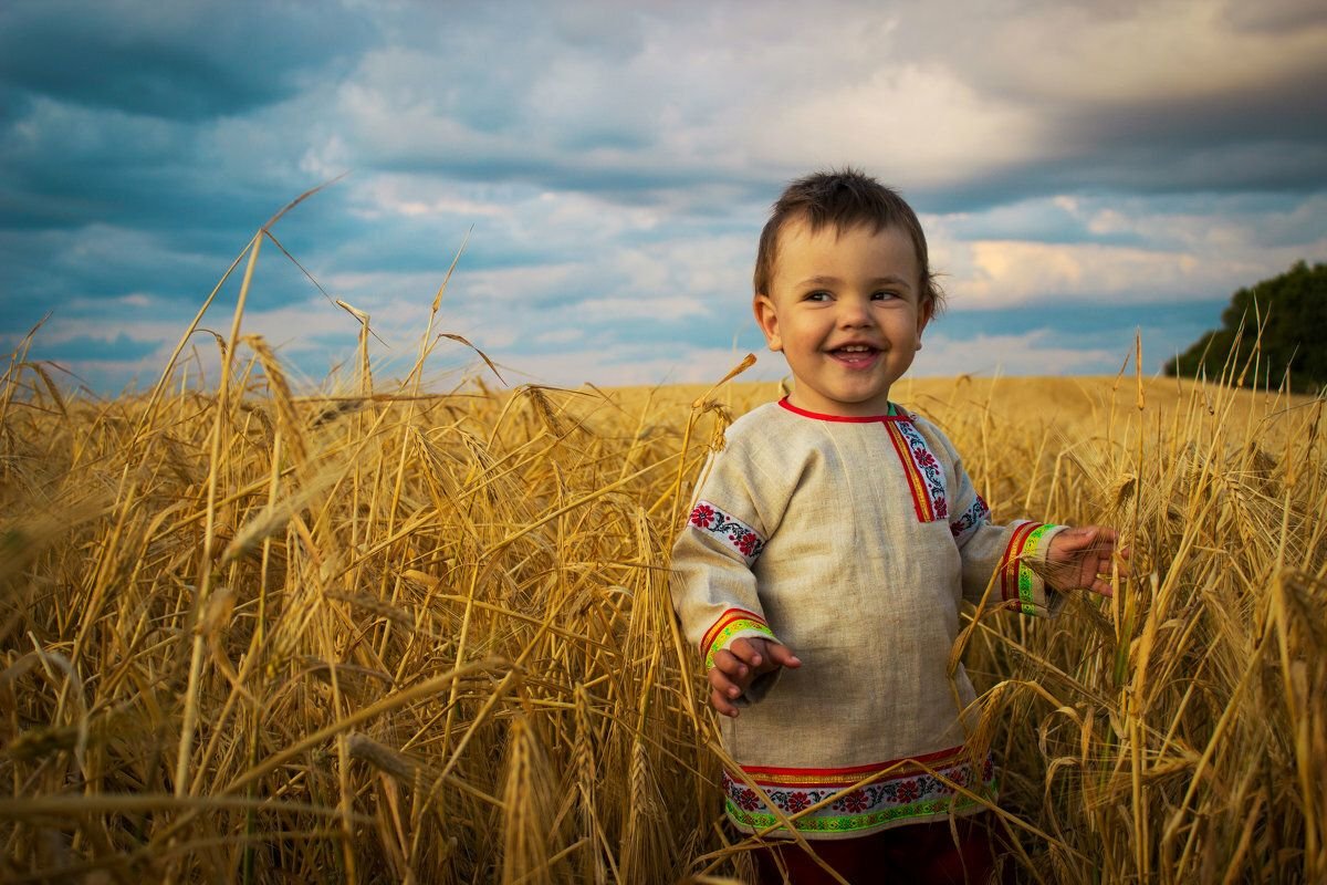
[[[949,531],[962,557],[963,598],[981,602],[986,586],[994,580],[987,604],[1005,604],[1023,614],[1056,614],[1064,596],[1047,586],[1042,576],[1051,539],[1066,527],[1031,520],[1007,525],[991,523],[990,508],[977,494],[958,452],[949,439],[937,435],[943,441],[953,464]]]

